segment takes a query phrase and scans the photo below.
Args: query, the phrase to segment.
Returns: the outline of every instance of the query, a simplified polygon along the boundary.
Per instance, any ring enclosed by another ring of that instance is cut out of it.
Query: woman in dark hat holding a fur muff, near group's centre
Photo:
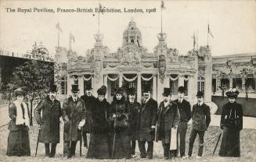
[[[117,89],[116,94],[113,97],[113,102],[111,103],[111,111],[114,120],[124,120],[129,116],[128,103],[123,95],[123,90],[121,88]],[[117,122],[116,122],[117,123]],[[115,124],[114,124],[115,125]],[[112,143],[112,153],[111,157],[114,159],[121,158],[131,158],[131,145],[129,129],[127,126],[117,125],[114,126],[114,135]]]

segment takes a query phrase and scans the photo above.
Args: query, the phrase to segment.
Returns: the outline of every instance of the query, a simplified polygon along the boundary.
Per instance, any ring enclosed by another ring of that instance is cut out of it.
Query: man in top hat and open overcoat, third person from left
[[[81,128],[85,125],[85,102],[78,97],[78,85],[72,85],[71,96],[63,102],[63,156],[74,157],[78,140],[81,139]]]

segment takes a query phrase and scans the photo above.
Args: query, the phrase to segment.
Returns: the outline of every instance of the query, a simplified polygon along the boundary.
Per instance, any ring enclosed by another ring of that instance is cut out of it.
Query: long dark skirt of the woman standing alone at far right
[[[224,127],[218,153],[221,157],[240,157],[240,130]]]

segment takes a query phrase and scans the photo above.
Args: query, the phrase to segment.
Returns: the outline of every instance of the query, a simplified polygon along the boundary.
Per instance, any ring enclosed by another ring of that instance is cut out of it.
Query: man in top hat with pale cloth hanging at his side
[[[164,158],[170,158],[170,144],[175,140],[177,145],[177,129],[179,123],[179,112],[177,104],[171,100],[171,89],[164,88],[164,100],[160,102],[157,111],[157,140],[162,141]],[[175,133],[172,133],[175,132]]]

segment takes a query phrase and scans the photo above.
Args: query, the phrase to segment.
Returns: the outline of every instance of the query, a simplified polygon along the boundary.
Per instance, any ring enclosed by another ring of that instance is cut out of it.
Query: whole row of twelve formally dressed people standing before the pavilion
[[[162,142],[164,158],[191,157],[193,144],[199,136],[200,158],[204,148],[204,132],[211,122],[210,107],[204,104],[204,93],[197,93],[197,104],[191,111],[189,101],[184,99],[184,86],[178,87],[178,99],[171,100],[171,89],[164,88],[163,101],[159,106],[153,100],[150,88],[142,90],[141,104],[136,100],[134,88],[129,88],[127,99],[124,90],[118,88],[112,103],[106,100],[106,86],[92,96],[92,87],[86,87],[85,95],[78,97],[78,85],[72,85],[71,96],[61,107],[56,100],[56,85],[49,89],[49,95],[41,100],[34,110],[38,122],[39,142],[45,143],[45,156],[55,157],[59,143],[59,118],[63,118],[63,156],[74,157],[77,142],[84,139],[88,147],[87,157],[96,159],[121,159],[135,157],[138,141],[140,157],[153,158],[153,141]],[[229,103],[222,110],[221,128],[223,131],[219,155],[240,157],[240,130],[243,129],[243,110],[236,103],[238,91],[227,93]],[[9,106],[8,156],[30,156],[28,136],[29,111],[23,102],[26,91],[20,87],[15,91],[17,100]],[[189,137],[189,151],[186,155],[186,132],[192,119]],[[232,133],[232,136],[230,135]],[[235,144],[230,139],[236,139]],[[147,149],[146,149],[147,146]]]

